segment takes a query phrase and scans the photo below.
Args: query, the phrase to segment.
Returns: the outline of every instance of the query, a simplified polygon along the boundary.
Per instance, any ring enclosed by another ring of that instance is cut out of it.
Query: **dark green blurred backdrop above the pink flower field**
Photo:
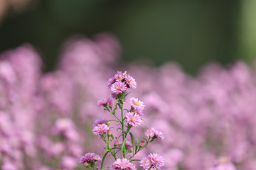
[[[1,0],[0,52],[29,42],[50,71],[71,35],[109,32],[124,61],[173,61],[195,74],[208,62],[254,60],[255,8],[253,0]]]

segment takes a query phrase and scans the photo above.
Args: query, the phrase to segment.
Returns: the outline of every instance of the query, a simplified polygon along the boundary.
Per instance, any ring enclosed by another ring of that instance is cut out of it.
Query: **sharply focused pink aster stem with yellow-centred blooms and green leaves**
[[[105,98],[97,102],[97,106],[103,106],[104,111],[107,111],[113,115],[115,118],[114,120],[107,120],[105,118],[101,118],[100,120],[96,120],[93,123],[93,130],[92,133],[95,135],[99,135],[100,138],[105,142],[105,156],[102,159],[101,168],[104,166],[105,157],[107,154],[112,155],[114,157],[115,162],[105,168],[105,169],[130,169],[130,170],[137,170],[136,166],[132,164],[133,161],[139,161],[140,159],[132,159],[135,155],[147,147],[149,143],[153,142],[154,139],[159,138],[164,140],[163,132],[160,130],[155,130],[152,128],[151,130],[146,130],[146,135],[149,138],[145,140],[139,140],[137,144],[134,143],[134,135],[130,130],[142,124],[142,110],[144,110],[145,105],[142,101],[138,98],[130,98],[130,108],[124,108],[124,102],[126,102],[125,98],[127,97],[127,89],[135,89],[136,88],[136,81],[133,77],[131,77],[127,72],[117,72],[114,77],[109,79],[108,86],[112,91],[112,96],[114,95],[114,99],[116,102],[113,106],[112,98]],[[111,103],[111,104],[110,104]],[[117,110],[121,111],[121,115],[117,114]],[[124,111],[127,113],[124,116]],[[110,122],[114,121],[121,125],[122,128],[117,128],[117,130],[121,130],[121,135],[118,137],[113,135],[112,131],[110,130]],[[131,141],[127,140],[127,135],[130,135]],[[122,138],[119,139],[119,138]],[[111,143],[114,142],[114,148],[111,147]],[[117,154],[119,152],[119,155]],[[85,156],[81,157],[80,163],[86,167],[91,167],[95,169],[95,162],[94,159],[91,159],[90,153],[85,154]],[[117,157],[120,157],[117,159]],[[142,164],[143,169],[154,169],[160,168],[164,166],[164,159],[159,154],[150,154],[149,157],[149,166]],[[92,164],[93,163],[93,164]],[[98,167],[96,167],[98,168]]]

